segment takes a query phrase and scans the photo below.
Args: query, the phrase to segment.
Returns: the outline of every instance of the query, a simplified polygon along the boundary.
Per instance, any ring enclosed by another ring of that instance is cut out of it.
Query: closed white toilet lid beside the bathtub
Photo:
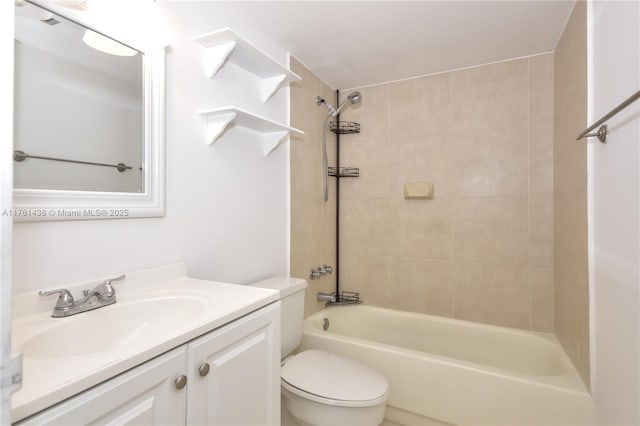
[[[371,402],[384,397],[387,380],[359,362],[310,349],[288,358],[282,380],[303,392],[338,401]]]

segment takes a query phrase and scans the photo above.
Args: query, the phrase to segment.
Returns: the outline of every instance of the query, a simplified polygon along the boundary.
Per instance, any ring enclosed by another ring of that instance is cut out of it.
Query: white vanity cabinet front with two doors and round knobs
[[[17,423],[43,424],[279,425],[280,303]]]

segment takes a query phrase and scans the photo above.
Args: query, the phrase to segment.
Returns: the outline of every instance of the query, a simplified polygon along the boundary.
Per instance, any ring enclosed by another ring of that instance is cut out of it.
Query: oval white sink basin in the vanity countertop
[[[113,305],[56,319],[20,349],[25,358],[53,359],[82,356],[138,345],[194,324],[205,312],[194,297],[156,297]]]

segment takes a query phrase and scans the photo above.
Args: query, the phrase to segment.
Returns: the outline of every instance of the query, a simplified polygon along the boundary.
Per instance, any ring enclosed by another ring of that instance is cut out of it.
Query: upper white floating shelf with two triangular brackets
[[[262,79],[260,95],[263,102],[268,101],[282,84],[302,80],[231,28],[203,34],[194,40],[205,48],[204,68],[209,78],[213,78],[229,60]]]

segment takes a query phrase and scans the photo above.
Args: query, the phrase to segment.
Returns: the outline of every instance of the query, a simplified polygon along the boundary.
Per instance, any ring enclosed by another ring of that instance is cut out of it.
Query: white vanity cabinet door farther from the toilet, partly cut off
[[[184,425],[186,371],[183,347],[74,396],[18,425]]]

